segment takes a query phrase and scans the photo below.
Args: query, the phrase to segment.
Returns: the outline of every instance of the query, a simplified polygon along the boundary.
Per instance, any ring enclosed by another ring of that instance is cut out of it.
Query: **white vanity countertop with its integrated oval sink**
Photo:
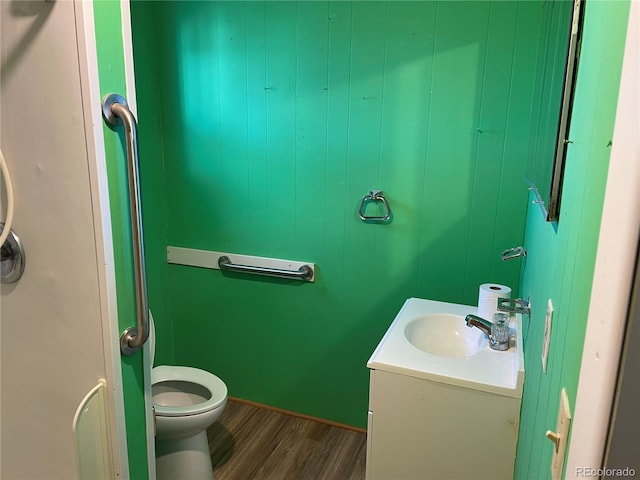
[[[511,321],[510,347],[492,350],[486,335],[464,317],[478,307],[408,299],[371,355],[367,367],[440,383],[522,397],[521,318]]]

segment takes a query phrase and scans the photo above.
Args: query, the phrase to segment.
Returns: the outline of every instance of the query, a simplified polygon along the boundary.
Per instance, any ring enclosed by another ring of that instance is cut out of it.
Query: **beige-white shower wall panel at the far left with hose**
[[[22,278],[0,289],[0,478],[78,478],[72,423],[100,379],[112,434],[103,445],[108,476],[129,478],[82,8],[0,2],[0,146],[26,252]]]

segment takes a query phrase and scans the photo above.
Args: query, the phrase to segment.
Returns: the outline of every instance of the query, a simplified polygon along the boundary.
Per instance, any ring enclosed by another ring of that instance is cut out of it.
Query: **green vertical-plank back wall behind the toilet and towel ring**
[[[132,14],[148,82],[143,208],[162,219],[145,227],[159,363],[364,426],[365,364],[406,298],[517,290],[520,262],[499,254],[523,241],[540,3],[134,2]],[[391,224],[357,218],[370,189]],[[166,266],[167,244],[315,262],[317,281]]]

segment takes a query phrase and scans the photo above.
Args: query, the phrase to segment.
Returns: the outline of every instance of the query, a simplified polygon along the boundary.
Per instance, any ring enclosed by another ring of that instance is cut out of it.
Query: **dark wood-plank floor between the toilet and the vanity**
[[[215,480],[362,480],[366,434],[229,400],[208,430]]]

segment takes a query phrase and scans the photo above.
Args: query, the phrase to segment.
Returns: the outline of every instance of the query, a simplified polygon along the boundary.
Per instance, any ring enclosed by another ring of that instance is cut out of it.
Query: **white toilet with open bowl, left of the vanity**
[[[151,361],[155,327],[149,313]],[[211,480],[213,467],[207,428],[227,404],[227,386],[212,373],[192,367],[158,366],[151,370],[156,420],[156,477]]]

